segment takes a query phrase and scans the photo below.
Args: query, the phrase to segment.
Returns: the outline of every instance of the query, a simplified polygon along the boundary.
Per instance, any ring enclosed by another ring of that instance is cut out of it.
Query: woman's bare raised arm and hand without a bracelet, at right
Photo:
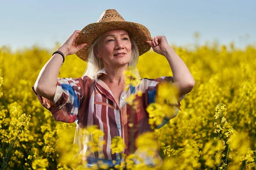
[[[183,60],[176,54],[173,48],[168,44],[165,36],[153,37],[151,41],[147,41],[153,50],[166,57],[173,73],[173,85],[179,89],[177,99],[184,94],[189,93],[195,86],[189,69]]]

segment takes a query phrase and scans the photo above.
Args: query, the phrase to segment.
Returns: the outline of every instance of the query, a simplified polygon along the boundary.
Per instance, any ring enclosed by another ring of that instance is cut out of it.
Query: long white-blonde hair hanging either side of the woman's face
[[[129,32],[128,32],[129,34]],[[136,65],[139,60],[139,48],[133,39],[131,35],[129,34],[130,40],[131,40],[131,60],[128,63],[128,66],[131,66],[136,69]],[[103,60],[102,58],[96,57],[95,52],[96,49],[99,48],[99,40],[102,38],[102,34],[100,34],[93,42],[93,44],[88,49],[88,60],[87,60],[87,67],[84,71],[83,76],[88,76],[91,79],[96,76],[97,72],[100,71],[102,68],[104,68]],[[137,70],[137,69],[136,69]],[[137,71],[138,73],[138,71]],[[139,75],[139,73],[138,73]],[[138,76],[137,75],[137,76]]]

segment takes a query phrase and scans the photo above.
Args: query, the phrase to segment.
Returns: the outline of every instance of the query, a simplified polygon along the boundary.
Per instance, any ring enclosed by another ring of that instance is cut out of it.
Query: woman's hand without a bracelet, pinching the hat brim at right
[[[166,56],[168,49],[173,48],[168,44],[165,36],[152,37],[151,41],[146,41],[154,50],[154,52]]]

